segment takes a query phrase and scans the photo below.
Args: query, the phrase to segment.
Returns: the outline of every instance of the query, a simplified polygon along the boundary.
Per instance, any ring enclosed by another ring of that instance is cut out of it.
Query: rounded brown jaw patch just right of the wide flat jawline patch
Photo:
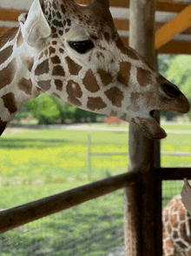
[[[112,87],[108,91],[105,91],[105,95],[112,104],[114,104],[117,107],[122,107],[122,100],[123,100],[123,93],[122,91],[117,87]]]

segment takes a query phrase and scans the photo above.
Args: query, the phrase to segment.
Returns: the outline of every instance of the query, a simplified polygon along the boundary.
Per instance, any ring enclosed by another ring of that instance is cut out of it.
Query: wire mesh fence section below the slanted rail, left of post
[[[122,190],[0,235],[0,255],[124,255]]]

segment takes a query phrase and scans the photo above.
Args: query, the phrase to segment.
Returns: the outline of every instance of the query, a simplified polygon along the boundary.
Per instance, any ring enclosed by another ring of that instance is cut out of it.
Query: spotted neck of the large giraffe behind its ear
[[[39,94],[30,79],[34,57],[25,50],[20,29],[0,37],[0,135],[23,104]]]

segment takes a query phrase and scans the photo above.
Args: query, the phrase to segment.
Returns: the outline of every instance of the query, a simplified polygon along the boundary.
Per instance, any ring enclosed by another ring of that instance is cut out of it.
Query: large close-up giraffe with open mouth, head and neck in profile
[[[24,103],[49,92],[87,111],[165,138],[155,110],[189,111],[188,99],[123,44],[109,0],[35,0],[19,28],[0,37],[0,134]]]

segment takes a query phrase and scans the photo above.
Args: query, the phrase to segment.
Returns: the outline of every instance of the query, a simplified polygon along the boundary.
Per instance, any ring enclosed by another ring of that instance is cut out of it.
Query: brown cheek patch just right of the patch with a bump
[[[91,70],[86,72],[85,77],[82,79],[82,83],[90,92],[96,92],[100,90],[100,86],[97,84],[95,75]]]

